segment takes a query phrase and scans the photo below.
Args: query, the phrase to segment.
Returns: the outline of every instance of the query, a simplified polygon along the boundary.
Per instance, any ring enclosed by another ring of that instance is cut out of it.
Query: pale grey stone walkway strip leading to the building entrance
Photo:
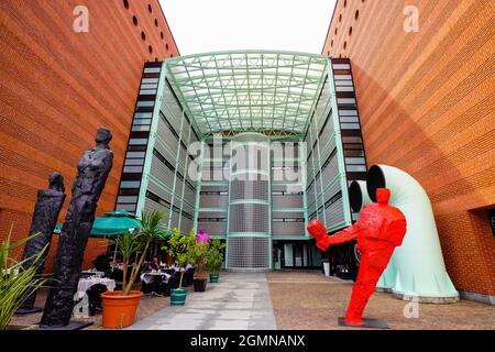
[[[191,290],[191,287],[190,287]],[[222,273],[205,293],[190,292],[185,306],[169,306],[130,330],[274,330],[277,329],[264,274]]]

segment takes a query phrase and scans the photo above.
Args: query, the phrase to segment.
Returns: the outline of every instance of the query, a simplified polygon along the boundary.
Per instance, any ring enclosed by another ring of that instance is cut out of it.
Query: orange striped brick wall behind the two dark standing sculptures
[[[76,6],[89,11],[87,33],[73,30]],[[14,239],[28,234],[36,189],[54,170],[65,177],[63,221],[99,127],[113,133],[114,160],[97,216],[113,210],[143,64],[176,55],[157,0],[0,1],[0,240],[11,224]],[[90,239],[84,267],[105,251]]]

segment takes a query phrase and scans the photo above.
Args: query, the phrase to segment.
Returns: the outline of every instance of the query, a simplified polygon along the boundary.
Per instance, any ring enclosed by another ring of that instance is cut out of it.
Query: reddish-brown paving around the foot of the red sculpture
[[[339,327],[345,315],[352,282],[326,277],[321,271],[282,271],[266,274],[277,328],[300,330],[355,329]],[[461,299],[455,304],[417,304],[417,317],[409,302],[391,294],[374,293],[364,317],[385,319],[396,330],[495,329],[495,306]],[[406,315],[410,318],[405,317]]]

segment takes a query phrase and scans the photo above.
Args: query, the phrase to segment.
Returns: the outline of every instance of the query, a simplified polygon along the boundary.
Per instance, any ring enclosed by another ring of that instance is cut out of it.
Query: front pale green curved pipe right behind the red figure
[[[383,273],[378,287],[389,289],[399,298],[418,297],[425,302],[459,300],[446,271],[442,250],[430,199],[421,185],[409,174],[387,165],[373,165],[367,172],[366,188],[376,201],[376,189],[388,188],[391,206],[400,209],[407,219],[403,245],[396,248]]]

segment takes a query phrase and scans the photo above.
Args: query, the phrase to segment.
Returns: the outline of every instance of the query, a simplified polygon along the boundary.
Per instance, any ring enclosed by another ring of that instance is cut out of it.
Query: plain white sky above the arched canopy
[[[180,55],[232,50],[320,54],[336,0],[160,0]]]

